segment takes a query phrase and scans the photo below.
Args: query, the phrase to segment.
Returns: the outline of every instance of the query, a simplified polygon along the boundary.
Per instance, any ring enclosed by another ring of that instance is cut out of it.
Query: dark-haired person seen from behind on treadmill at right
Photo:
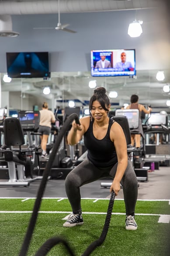
[[[148,107],[148,109],[146,109],[142,104],[139,104],[138,100],[139,100],[138,95],[132,94],[131,99],[130,99],[131,104],[128,105],[128,107],[126,107],[126,109],[138,109],[139,110],[139,126],[138,126],[138,128],[131,130],[133,132],[139,133],[139,134],[131,134],[131,145],[132,145],[132,147],[135,146],[135,148],[140,148],[141,135],[144,138],[141,113],[143,111],[145,114],[149,114],[152,111],[152,108]]]

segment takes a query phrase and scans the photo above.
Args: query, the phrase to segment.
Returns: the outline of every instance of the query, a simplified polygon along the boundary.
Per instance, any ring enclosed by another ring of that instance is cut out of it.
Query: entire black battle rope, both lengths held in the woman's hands
[[[43,177],[42,177],[39,189],[38,189],[38,193],[37,193],[37,197],[36,197],[36,200],[35,200],[35,205],[34,205],[34,208],[33,208],[32,215],[31,215],[30,223],[28,225],[27,233],[25,235],[24,242],[22,244],[19,256],[26,256],[26,254],[27,254],[28,247],[29,247],[29,244],[30,244],[30,241],[31,241],[31,236],[32,236],[32,233],[34,231],[36,220],[37,220],[37,217],[38,217],[38,211],[39,211],[39,208],[40,208],[40,205],[41,205],[42,197],[43,197],[45,187],[46,187],[46,184],[47,184],[47,180],[48,180],[48,177],[49,177],[49,172],[50,172],[50,169],[52,168],[52,163],[55,159],[57,150],[58,150],[59,145],[62,141],[62,137],[64,136],[68,127],[70,126],[70,123],[72,123],[74,119],[75,119],[76,123],[80,124],[78,116],[76,115],[76,113],[69,115],[69,117],[66,119],[64,125],[62,126],[62,128],[59,132],[59,136],[57,137],[57,140],[55,141],[55,143],[53,145],[52,153],[49,156],[49,161],[47,162],[47,165],[46,165],[45,170],[43,172]],[[86,249],[86,251],[83,253],[82,256],[89,256],[90,253],[97,246],[101,245],[104,242],[104,240],[106,238],[106,235],[108,233],[108,228],[109,228],[109,224],[110,224],[110,220],[111,220],[111,213],[112,213],[112,209],[113,209],[114,198],[115,198],[115,193],[114,193],[114,191],[112,191],[111,198],[110,198],[110,201],[109,201],[109,206],[108,206],[108,212],[107,212],[107,216],[106,216],[106,219],[105,219],[104,228],[103,228],[103,231],[101,233],[101,237],[99,239],[97,239],[96,241],[92,242],[89,245],[89,247]],[[62,242],[63,245],[66,246],[67,251],[69,252],[69,254],[71,256],[75,256],[75,254],[70,249],[68,243],[63,238],[59,238],[59,237],[54,237],[54,238],[50,238],[49,240],[47,240],[40,247],[40,249],[36,252],[35,256],[45,256],[50,251],[50,249],[52,249],[52,247],[55,246],[56,244],[58,244],[59,242]]]

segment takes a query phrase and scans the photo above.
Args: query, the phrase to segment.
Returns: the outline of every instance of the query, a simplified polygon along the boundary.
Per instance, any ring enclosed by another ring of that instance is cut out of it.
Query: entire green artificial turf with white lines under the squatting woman
[[[35,199],[0,199],[0,256],[17,256],[24,241],[31,213],[2,213],[2,211],[32,211]],[[41,211],[70,212],[67,199],[43,199]],[[75,256],[81,256],[87,247],[97,240],[104,227],[109,200],[82,199],[82,226],[62,227],[62,220],[68,213],[39,213],[32,235],[28,256],[34,256],[40,246],[49,238],[62,237]],[[85,213],[86,212],[86,213]],[[87,214],[93,212],[94,214]],[[170,223],[158,223],[159,214],[170,215],[168,201],[137,201],[136,231],[125,230],[125,205],[115,200],[108,234],[103,244],[91,256],[168,256]],[[121,213],[121,214],[119,214]],[[141,214],[141,215],[138,215]],[[148,214],[148,215],[145,215]],[[155,214],[155,215],[149,215]],[[67,256],[66,248],[56,245],[48,256]]]

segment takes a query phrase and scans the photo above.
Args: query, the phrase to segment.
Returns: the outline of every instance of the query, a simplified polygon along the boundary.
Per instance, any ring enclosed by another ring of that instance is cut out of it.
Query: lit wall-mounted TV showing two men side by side
[[[135,49],[91,50],[91,76],[135,75]]]

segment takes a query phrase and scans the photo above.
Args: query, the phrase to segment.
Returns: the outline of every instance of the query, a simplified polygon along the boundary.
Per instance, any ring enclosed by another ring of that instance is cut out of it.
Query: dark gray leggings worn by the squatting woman
[[[112,168],[97,168],[90,160],[86,159],[76,166],[66,177],[66,194],[72,207],[73,213],[81,211],[80,187],[104,177],[114,179],[118,163]],[[121,179],[125,200],[126,215],[134,215],[138,197],[138,181],[132,162],[128,160],[128,166]]]

